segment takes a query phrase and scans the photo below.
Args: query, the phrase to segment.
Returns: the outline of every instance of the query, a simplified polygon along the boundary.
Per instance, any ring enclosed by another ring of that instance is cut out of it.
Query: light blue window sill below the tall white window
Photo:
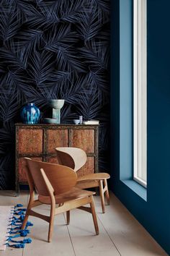
[[[135,182],[132,179],[123,179],[121,181],[131,190],[133,190],[133,192],[135,192],[139,197],[147,201],[147,189],[145,187],[141,186],[140,184],[138,184],[138,182]]]

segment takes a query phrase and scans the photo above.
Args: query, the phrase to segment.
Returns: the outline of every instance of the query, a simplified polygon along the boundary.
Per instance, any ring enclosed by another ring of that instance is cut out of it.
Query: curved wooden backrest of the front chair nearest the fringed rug
[[[30,174],[30,182],[34,184],[39,195],[49,196],[49,189],[53,189],[54,195],[59,195],[76,185],[77,175],[73,169],[30,158],[24,159]]]

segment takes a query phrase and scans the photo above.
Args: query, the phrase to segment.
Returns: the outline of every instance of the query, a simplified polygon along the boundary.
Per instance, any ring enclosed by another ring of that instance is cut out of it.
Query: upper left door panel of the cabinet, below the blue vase
[[[42,153],[42,129],[19,129],[18,149],[20,154]]]

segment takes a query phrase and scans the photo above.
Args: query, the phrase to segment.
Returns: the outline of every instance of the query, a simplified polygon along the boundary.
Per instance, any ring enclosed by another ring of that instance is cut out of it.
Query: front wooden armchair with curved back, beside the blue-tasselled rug
[[[27,205],[22,229],[24,229],[29,216],[42,218],[49,223],[48,242],[50,242],[53,234],[54,216],[66,212],[67,224],[69,224],[70,210],[79,208],[92,214],[96,234],[99,234],[93,200],[95,193],[74,187],[77,182],[77,175],[73,169],[58,164],[33,161],[30,158],[25,158],[25,161],[30,187],[30,201]],[[35,190],[38,193],[37,200],[35,200]],[[32,210],[41,204],[50,205],[50,216],[44,216]],[[90,204],[90,208],[84,207],[86,204]]]

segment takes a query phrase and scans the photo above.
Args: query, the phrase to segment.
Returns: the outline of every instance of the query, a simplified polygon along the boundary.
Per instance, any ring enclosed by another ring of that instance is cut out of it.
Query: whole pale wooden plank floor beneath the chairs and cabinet
[[[143,226],[128,212],[122,203],[111,193],[111,203],[102,213],[99,197],[94,197],[99,223],[99,236],[95,235],[91,214],[82,210],[71,211],[71,223],[66,225],[66,217],[55,217],[53,241],[48,243],[48,223],[30,217],[34,223],[29,237],[31,244],[24,249],[8,247],[0,256],[151,256],[167,255],[147,233]],[[27,205],[28,193],[19,197],[12,192],[0,191],[0,205]],[[48,206],[37,209],[47,212]]]

